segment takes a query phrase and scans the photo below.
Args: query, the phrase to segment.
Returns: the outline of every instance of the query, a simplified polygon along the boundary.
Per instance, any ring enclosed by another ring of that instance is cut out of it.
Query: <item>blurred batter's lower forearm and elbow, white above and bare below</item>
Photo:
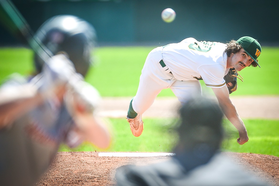
[[[82,79],[78,80],[78,78],[71,81],[68,88],[64,101],[73,117],[78,133],[99,148],[109,147],[110,132],[105,123],[94,114],[101,100],[98,91],[89,83]]]

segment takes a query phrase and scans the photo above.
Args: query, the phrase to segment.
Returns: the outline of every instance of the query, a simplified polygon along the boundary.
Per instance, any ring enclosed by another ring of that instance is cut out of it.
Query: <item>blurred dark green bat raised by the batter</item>
[[[0,4],[0,19],[7,30],[15,37],[20,37],[27,41],[32,50],[34,50],[44,62],[46,62],[49,57],[53,56],[52,52],[42,41],[35,37],[30,25],[10,0],[0,0]]]

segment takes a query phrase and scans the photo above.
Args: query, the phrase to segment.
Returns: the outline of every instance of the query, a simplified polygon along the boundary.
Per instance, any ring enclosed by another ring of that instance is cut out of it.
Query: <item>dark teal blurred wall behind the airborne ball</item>
[[[226,42],[251,36],[279,44],[278,0],[12,0],[36,31],[54,15],[71,14],[95,27],[98,45],[158,45],[186,37]],[[161,12],[172,8],[171,23]],[[0,45],[20,45],[0,25]]]

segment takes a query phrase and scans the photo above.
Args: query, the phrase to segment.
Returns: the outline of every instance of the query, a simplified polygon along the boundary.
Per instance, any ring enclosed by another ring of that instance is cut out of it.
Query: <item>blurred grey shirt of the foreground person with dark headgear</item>
[[[185,171],[175,158],[148,166],[126,165],[116,170],[118,186],[267,186],[258,177],[222,154]]]

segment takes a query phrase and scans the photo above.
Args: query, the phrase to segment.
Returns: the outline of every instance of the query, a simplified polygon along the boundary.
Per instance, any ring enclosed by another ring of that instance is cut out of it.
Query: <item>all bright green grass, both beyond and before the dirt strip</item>
[[[155,47],[155,46],[154,46]],[[154,47],[100,47],[95,51],[95,66],[93,66],[86,81],[93,84],[102,96],[129,96],[135,95],[141,69],[148,53]],[[262,47],[259,57],[261,68],[247,67],[240,72],[244,82],[238,81],[238,89],[231,96],[242,95],[279,95],[278,78],[276,71],[279,67],[279,47]],[[26,48],[0,49],[0,81],[9,74],[17,72],[28,76],[33,72],[33,52]],[[203,91],[210,92],[203,86]],[[167,89],[159,96],[174,96]],[[113,143],[106,151],[142,151],[142,152],[169,152],[176,142],[175,135],[169,130],[171,120],[145,119],[144,133],[136,138],[132,136],[125,119],[110,119],[113,128]],[[251,152],[279,156],[279,121],[272,120],[244,120],[247,127],[249,142],[238,145],[238,133],[232,127],[232,137],[223,143],[223,149],[231,152]],[[164,127],[159,127],[160,125]],[[229,128],[230,128],[229,127]],[[62,145],[60,150],[100,151],[90,143],[83,143],[76,149],[69,149]],[[103,149],[104,150],[104,149]]]

